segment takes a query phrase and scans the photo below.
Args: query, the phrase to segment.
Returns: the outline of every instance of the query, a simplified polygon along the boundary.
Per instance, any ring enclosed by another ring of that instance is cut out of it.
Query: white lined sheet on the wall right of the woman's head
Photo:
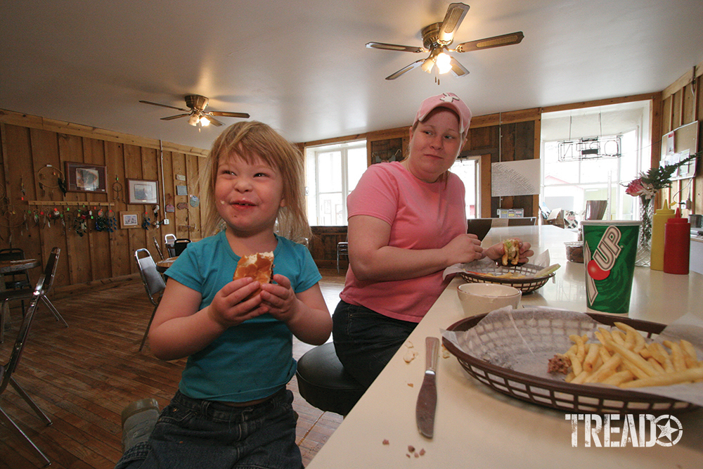
[[[491,165],[491,196],[535,195],[541,181],[539,160],[493,163]]]

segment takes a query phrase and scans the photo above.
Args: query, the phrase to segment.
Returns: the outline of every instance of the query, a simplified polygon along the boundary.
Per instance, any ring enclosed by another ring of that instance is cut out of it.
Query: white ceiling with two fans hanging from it
[[[522,31],[522,44],[453,53],[470,75],[434,82],[422,46],[446,0],[22,0],[0,4],[0,108],[209,148],[139,103],[250,113],[291,141],[411,124],[420,101],[453,91],[474,115],[662,91],[703,60],[701,0],[466,0],[454,44]],[[221,117],[225,124],[236,122]]]

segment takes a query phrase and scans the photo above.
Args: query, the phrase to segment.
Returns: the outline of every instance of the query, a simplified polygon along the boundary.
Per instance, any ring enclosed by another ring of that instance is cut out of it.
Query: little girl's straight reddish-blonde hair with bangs
[[[212,144],[205,171],[200,174],[200,187],[204,189],[203,236],[211,236],[224,229],[224,220],[217,212],[217,201],[214,200],[215,181],[219,162],[230,158],[233,153],[248,163],[260,159],[278,169],[283,177],[285,206],[278,209],[276,233],[297,243],[305,243],[311,238],[305,213],[303,155],[278,132],[257,121],[232,124]]]

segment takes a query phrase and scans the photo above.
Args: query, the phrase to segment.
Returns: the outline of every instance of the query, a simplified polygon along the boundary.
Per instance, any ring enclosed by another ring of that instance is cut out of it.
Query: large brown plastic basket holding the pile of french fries
[[[652,338],[664,330],[666,326],[638,319],[621,318],[608,314],[591,314],[588,316],[607,326],[613,326],[620,321],[645,333]],[[453,323],[447,330],[469,330],[475,327],[486,314],[479,314]],[[509,324],[506,327],[511,327]],[[553,333],[563,333],[562,325],[555,324]],[[560,411],[579,413],[678,413],[698,409],[699,406],[690,402],[669,399],[654,394],[631,392],[613,387],[589,385],[574,385],[564,381],[539,378],[534,375],[512,371],[508,368],[490,364],[467,354],[445,338],[444,347],[458,359],[463,368],[484,385],[491,389],[507,394],[516,399],[552,407]],[[545,364],[546,366],[546,364]]]

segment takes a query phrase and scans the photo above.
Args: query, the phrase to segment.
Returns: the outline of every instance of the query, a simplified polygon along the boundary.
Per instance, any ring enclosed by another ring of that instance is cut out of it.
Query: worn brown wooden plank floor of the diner
[[[344,278],[336,269],[323,271],[321,288],[330,313],[339,301]],[[27,404],[8,388],[5,411],[25,430],[55,469],[113,468],[122,455],[120,412],[131,401],[155,397],[165,406],[176,391],[185,360],[165,362],[145,347],[138,351],[152,306],[141,282],[131,282],[53,302],[69,324],[56,322],[40,306],[15,378],[53,420],[46,426]],[[0,344],[5,364],[13,346],[20,314],[13,311],[13,328]],[[310,345],[294,340],[297,358]],[[299,414],[297,443],[307,465],[342,417],[309,406],[289,389]],[[0,425],[0,468],[37,468],[41,461],[29,444]]]

